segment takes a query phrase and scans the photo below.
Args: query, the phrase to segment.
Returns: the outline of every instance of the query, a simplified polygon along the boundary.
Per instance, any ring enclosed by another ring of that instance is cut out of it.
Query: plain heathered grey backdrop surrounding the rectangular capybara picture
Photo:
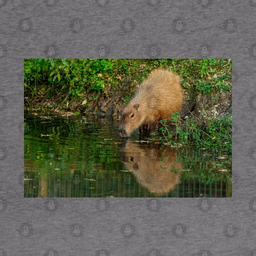
[[[0,47],[3,256],[254,255],[256,0],[0,0]],[[99,58],[101,47],[104,58],[150,58],[152,47],[156,58],[232,58],[233,197],[206,210],[202,198],[156,198],[154,210],[149,198],[103,198],[104,209],[102,198],[23,198],[23,60],[50,47],[54,58]]]

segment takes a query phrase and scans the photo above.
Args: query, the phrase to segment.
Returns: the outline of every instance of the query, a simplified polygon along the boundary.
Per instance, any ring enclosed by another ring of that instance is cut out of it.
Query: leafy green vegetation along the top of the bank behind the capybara
[[[25,108],[38,104],[74,111],[89,94],[97,99],[118,90],[126,91],[126,102],[136,85],[159,66],[180,74],[187,92],[231,90],[231,59],[25,59]]]

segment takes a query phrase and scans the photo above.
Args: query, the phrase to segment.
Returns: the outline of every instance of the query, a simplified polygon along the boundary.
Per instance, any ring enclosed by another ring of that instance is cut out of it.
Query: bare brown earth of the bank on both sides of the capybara
[[[99,116],[112,115],[119,119],[122,110],[129,102],[124,102],[127,95],[134,95],[136,85],[124,86],[120,88],[107,88],[95,98],[93,93],[88,93],[87,96],[80,100],[76,100],[65,107],[67,111],[80,113],[93,113]],[[122,86],[123,85],[123,86]],[[94,98],[91,100],[91,98]],[[212,89],[210,93],[203,94],[200,91],[183,90],[182,106],[180,110],[180,117],[191,117],[195,115],[199,118],[205,119],[210,117],[221,118],[223,115],[228,115],[232,112],[232,92],[220,91],[217,88]],[[57,100],[48,100],[47,102],[39,102],[42,108],[50,109],[51,111],[59,110],[59,102]]]

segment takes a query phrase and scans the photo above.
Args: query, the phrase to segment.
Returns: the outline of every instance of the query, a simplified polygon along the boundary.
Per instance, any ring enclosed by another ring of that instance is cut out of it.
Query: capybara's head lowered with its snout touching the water
[[[119,124],[120,136],[127,138],[130,134],[143,123],[143,113],[139,109],[139,104],[128,104],[124,108]]]

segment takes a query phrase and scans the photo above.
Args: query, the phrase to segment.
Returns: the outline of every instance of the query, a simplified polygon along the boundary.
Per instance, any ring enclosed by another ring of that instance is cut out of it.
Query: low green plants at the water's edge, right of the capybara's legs
[[[199,119],[196,116],[180,121],[179,113],[171,115],[176,131],[169,131],[167,119],[161,120],[163,132],[160,140],[163,143],[176,145],[181,143],[187,146],[197,146],[210,150],[226,151],[226,154],[232,153],[232,117],[223,116],[219,120],[216,118]],[[175,141],[174,141],[175,138]]]

